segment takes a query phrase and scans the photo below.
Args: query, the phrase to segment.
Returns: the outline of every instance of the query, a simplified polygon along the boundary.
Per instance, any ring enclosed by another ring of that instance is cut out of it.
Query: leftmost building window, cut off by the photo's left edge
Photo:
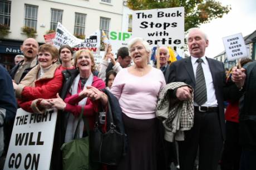
[[[0,2],[0,24],[10,26],[11,1]]]

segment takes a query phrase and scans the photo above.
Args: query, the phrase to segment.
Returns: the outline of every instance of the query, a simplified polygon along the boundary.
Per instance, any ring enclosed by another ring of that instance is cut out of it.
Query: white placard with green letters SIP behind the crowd
[[[112,47],[112,53],[116,56],[117,51],[121,47],[127,47],[131,39],[130,32],[110,31],[109,41]]]

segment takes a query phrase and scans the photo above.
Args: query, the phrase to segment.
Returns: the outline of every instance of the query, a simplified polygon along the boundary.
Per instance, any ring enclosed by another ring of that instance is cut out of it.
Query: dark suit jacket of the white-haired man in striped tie
[[[207,57],[206,59],[209,63],[215,95],[218,101],[221,133],[223,139],[225,139],[224,100],[229,98],[238,99],[242,96],[242,92],[240,92],[236,86],[227,86],[223,63]],[[184,82],[195,88],[195,76],[191,57],[171,63],[167,83],[171,82]]]

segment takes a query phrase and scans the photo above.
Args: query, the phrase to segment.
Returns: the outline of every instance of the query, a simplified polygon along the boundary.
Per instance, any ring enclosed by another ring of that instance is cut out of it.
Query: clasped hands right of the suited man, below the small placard
[[[232,81],[237,85],[238,88],[242,88],[244,86],[244,81],[246,78],[245,69],[234,68],[232,72]]]

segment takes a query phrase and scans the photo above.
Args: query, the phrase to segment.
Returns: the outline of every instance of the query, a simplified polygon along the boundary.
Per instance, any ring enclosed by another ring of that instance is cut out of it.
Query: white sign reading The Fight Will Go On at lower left
[[[57,111],[17,110],[4,169],[49,170]]]

